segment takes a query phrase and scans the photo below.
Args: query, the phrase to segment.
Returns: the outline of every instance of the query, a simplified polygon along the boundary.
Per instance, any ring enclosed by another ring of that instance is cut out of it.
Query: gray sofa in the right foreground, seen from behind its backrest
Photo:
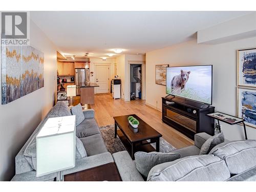
[[[256,140],[228,141],[215,146],[208,155],[199,155],[211,136],[195,135],[195,145],[172,151],[181,158],[151,168],[141,176],[126,151],[113,154],[123,181],[256,181]]]

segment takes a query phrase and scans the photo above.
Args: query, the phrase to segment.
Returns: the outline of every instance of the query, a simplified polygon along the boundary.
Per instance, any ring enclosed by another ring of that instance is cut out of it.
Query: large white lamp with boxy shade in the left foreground
[[[49,118],[36,135],[36,177],[75,166],[75,115]]]

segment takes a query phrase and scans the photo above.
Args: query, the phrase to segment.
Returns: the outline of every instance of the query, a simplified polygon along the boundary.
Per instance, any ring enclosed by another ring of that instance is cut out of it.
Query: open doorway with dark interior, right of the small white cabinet
[[[130,100],[141,99],[142,65],[130,65]]]

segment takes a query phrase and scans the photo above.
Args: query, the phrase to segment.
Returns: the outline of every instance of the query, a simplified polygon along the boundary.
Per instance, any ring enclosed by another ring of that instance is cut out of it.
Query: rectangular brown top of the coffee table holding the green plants
[[[129,116],[133,116],[140,122],[140,124],[138,125],[137,131],[130,125],[127,119]],[[154,130],[152,126],[148,125],[146,122],[144,122],[141,118],[139,118],[135,114],[117,116],[117,117],[114,117],[114,119],[119,129],[121,129],[124,132],[126,137],[131,142],[143,141],[143,140],[152,139],[156,137],[162,137],[162,135],[158,133],[156,130]]]

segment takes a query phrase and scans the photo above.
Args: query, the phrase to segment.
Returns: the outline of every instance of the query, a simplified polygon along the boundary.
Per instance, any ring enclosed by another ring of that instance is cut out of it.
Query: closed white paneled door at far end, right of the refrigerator
[[[109,93],[109,66],[96,66],[96,93]]]

